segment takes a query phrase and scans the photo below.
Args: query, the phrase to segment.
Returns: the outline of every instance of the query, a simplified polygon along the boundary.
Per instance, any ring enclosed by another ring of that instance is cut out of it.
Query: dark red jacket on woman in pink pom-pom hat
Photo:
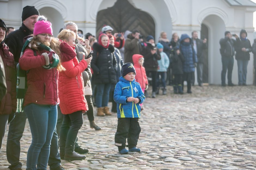
[[[49,51],[37,51],[34,55],[32,49],[25,49],[24,54],[19,59],[19,65],[22,70],[28,70],[28,90],[25,94],[24,106],[35,103],[38,105],[57,105],[58,98],[58,76],[59,71],[56,68],[45,69],[42,66],[46,64],[42,53]]]

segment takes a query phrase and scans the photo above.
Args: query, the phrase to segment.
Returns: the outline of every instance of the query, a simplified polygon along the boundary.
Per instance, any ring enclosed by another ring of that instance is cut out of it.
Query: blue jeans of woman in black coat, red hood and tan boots
[[[111,84],[97,84],[96,106],[97,108],[108,106]]]

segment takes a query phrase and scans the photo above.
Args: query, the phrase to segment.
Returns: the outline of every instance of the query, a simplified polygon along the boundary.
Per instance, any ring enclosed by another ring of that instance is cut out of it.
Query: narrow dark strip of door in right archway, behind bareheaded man
[[[201,40],[203,39],[207,39],[208,41],[206,42],[207,43],[207,47],[208,47],[208,42],[209,42],[209,39],[208,39],[208,27],[205,25],[205,24],[201,24]],[[208,48],[203,50],[203,56],[204,56],[204,63],[203,63],[203,83],[208,83],[209,80],[209,76],[208,76]]]

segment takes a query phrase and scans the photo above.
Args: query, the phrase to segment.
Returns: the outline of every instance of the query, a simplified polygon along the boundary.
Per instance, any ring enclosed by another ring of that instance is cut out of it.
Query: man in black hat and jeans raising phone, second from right
[[[220,39],[220,54],[222,62],[222,71],[221,71],[221,86],[226,86],[226,72],[228,70],[228,86],[234,86],[232,83],[232,71],[234,65],[234,55],[236,40],[239,39],[238,35],[235,34],[236,40],[232,39],[232,34],[229,31],[226,31],[225,38]]]

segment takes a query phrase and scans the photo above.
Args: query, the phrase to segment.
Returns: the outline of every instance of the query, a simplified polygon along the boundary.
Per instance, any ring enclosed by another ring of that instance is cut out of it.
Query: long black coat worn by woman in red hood
[[[93,44],[93,57],[91,67],[93,70],[93,81],[95,84],[115,84],[115,74],[117,71],[117,61],[112,55],[114,46],[109,44],[104,48],[99,43]]]

